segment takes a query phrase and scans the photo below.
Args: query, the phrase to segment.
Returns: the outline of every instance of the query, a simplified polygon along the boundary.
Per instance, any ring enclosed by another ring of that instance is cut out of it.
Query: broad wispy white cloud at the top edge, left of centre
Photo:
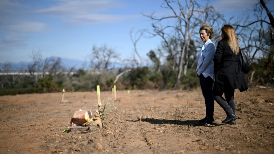
[[[61,17],[64,23],[71,25],[91,25],[115,23],[142,15],[108,14],[110,9],[125,7],[112,0],[58,0],[57,6],[36,10],[35,13]]]

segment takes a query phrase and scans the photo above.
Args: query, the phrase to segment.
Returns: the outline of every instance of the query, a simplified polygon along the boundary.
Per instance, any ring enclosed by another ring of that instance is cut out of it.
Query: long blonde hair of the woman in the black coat
[[[238,44],[238,39],[234,28],[231,25],[224,25],[222,27],[222,33],[225,38],[227,38],[227,44],[231,48],[232,52],[237,55],[240,51],[239,44]]]

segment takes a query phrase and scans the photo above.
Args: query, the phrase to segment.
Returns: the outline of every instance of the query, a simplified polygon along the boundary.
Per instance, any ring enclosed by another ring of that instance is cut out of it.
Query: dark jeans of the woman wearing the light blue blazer
[[[212,97],[213,80],[211,79],[210,76],[204,77],[201,74],[200,85],[201,85],[202,93],[204,95],[204,103],[206,105],[206,116],[213,117],[213,113],[214,113],[214,99]]]

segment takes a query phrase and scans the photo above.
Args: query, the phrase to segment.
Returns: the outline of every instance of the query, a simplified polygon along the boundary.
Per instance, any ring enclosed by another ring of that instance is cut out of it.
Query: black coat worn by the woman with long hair
[[[239,64],[239,53],[235,55],[227,44],[226,38],[220,40],[214,55],[215,84],[213,90],[224,91],[225,88],[236,89],[240,92],[248,89],[245,75]]]

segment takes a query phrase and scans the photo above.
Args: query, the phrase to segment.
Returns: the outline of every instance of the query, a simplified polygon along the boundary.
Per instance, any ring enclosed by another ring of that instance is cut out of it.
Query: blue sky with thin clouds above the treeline
[[[132,59],[130,31],[151,29],[141,13],[168,14],[162,0],[0,0],[0,62],[31,61],[32,51],[43,58],[87,60],[93,45],[115,49]],[[207,1],[198,0],[205,4]],[[252,9],[257,0],[215,0],[211,4],[228,19]],[[221,26],[221,25],[220,25]],[[146,54],[161,39],[142,37],[137,50]],[[136,56],[137,57],[137,56]]]

